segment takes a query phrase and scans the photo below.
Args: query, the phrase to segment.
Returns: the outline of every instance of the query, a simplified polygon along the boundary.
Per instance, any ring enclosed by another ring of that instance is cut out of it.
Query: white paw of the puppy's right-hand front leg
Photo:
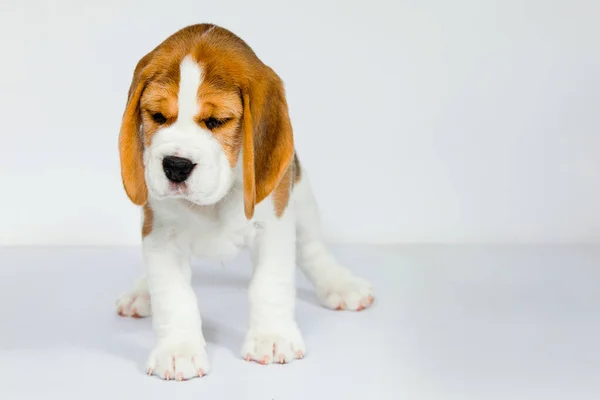
[[[263,365],[289,363],[304,358],[305,354],[304,340],[295,323],[283,329],[250,329],[242,347],[246,361]]]

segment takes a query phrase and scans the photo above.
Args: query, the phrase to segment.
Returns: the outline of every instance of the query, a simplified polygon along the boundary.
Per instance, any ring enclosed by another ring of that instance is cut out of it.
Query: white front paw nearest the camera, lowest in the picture
[[[165,380],[201,378],[210,371],[204,339],[165,339],[150,353],[146,372]]]

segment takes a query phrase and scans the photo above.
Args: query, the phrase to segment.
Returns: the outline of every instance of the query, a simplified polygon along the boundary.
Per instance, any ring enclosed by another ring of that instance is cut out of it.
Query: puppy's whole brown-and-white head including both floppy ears
[[[251,218],[286,173],[292,136],[279,77],[231,32],[194,25],[135,69],[119,137],[123,185],[138,205],[148,196],[215,204],[241,159]]]

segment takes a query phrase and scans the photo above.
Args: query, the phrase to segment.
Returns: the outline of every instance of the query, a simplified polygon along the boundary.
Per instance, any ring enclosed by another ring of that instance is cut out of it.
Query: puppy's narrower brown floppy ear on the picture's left
[[[119,153],[121,158],[121,178],[129,199],[137,205],[144,205],[148,200],[148,188],[144,179],[143,145],[140,134],[140,97],[145,82],[141,79],[143,67],[148,57],[142,58],[133,75],[131,87],[119,134]]]

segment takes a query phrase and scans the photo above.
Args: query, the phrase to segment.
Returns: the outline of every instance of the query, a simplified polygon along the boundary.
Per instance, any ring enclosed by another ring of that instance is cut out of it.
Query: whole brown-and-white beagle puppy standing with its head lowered
[[[139,61],[119,153],[125,192],[143,211],[145,273],[117,307],[126,317],[152,314],[148,374],[186,380],[210,371],[192,256],[222,261],[249,248],[248,361],[306,354],[294,318],[296,263],[325,307],[373,302],[371,285],[323,243],[281,79],[228,30],[189,26]]]

